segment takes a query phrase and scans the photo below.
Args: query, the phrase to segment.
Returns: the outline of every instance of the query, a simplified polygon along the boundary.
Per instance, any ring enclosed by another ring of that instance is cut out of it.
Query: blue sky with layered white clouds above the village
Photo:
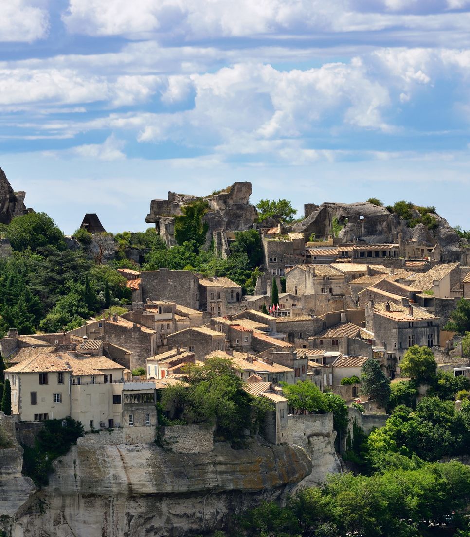
[[[380,198],[470,228],[470,0],[8,0],[0,166],[66,233],[150,200]]]

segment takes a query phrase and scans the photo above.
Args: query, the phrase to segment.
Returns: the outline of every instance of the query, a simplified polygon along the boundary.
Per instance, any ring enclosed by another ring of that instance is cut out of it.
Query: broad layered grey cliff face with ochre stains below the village
[[[298,446],[166,453],[154,444],[77,445],[12,521],[15,537],[197,535],[275,499],[312,471]],[[44,506],[47,506],[44,509]]]

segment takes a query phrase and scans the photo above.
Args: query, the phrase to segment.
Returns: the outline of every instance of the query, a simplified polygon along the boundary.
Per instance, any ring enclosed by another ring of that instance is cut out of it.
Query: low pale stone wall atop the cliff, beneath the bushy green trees
[[[173,453],[210,453],[214,448],[214,425],[171,425],[162,427],[165,445]]]

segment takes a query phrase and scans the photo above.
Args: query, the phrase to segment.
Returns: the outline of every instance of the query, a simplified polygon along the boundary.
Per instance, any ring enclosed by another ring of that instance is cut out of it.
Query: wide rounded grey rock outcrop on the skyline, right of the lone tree
[[[414,217],[420,216],[415,211]],[[368,202],[341,204],[326,202],[320,206],[307,204],[306,219],[292,226],[293,231],[303,233],[306,237],[314,233],[317,237],[331,233],[332,222],[336,218],[344,228],[339,233],[343,242],[355,239],[369,244],[392,243],[398,235],[403,235],[404,241],[415,239],[429,246],[438,243],[444,262],[461,261],[464,250],[459,244],[459,236],[449,223],[438,214],[432,214],[438,222],[435,230],[418,224],[409,228],[407,221],[389,213],[385,207],[378,207]],[[346,223],[347,222],[347,223]]]

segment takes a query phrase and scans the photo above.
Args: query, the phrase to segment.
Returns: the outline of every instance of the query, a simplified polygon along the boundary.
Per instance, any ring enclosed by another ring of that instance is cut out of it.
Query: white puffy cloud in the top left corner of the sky
[[[0,2],[0,41],[31,42],[45,38],[48,13],[28,0]]]

